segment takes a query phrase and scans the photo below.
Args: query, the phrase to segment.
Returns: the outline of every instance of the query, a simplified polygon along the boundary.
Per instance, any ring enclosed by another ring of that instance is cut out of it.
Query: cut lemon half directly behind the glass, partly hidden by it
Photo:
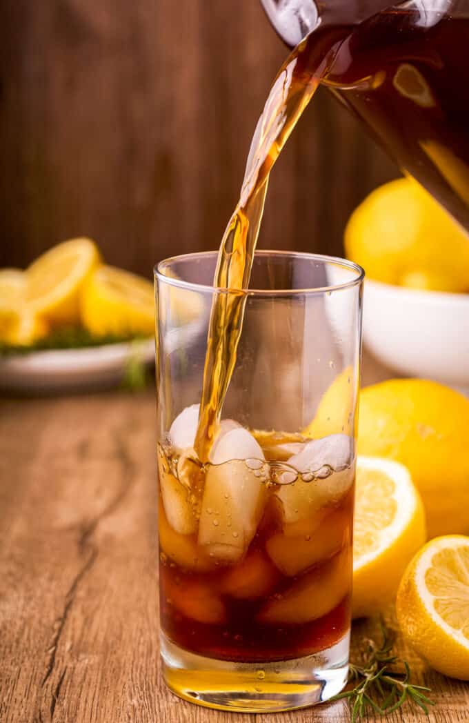
[[[353,617],[395,599],[406,565],[426,539],[423,504],[408,469],[358,457],[353,525]]]

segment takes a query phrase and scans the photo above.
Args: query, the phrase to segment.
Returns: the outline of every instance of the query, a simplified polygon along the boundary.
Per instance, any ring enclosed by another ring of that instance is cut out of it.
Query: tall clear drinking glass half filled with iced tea
[[[188,254],[155,270],[163,675],[213,708],[300,708],[348,673],[363,271],[255,254],[202,464],[210,310],[233,293],[212,287],[216,261]]]

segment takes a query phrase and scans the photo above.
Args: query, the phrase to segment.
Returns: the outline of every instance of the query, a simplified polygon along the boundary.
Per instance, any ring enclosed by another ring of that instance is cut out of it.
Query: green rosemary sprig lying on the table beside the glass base
[[[351,709],[351,723],[356,723],[373,709],[385,716],[409,702],[421,708],[426,715],[428,706],[434,702],[426,695],[430,688],[410,683],[410,667],[405,660],[392,653],[393,640],[384,623],[380,620],[382,643],[366,641],[366,652],[362,665],[350,664],[349,690],[339,693],[332,701],[347,700]]]

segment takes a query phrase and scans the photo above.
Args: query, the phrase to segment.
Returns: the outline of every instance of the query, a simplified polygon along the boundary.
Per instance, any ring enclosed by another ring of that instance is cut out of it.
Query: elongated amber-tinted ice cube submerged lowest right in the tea
[[[268,600],[257,620],[274,625],[317,620],[343,600],[351,589],[351,578],[352,555],[347,547],[327,564],[305,573],[282,595]]]

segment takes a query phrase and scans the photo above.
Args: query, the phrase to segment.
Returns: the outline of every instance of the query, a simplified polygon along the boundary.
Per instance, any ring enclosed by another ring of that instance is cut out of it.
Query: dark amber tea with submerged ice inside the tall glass
[[[292,468],[282,471],[272,448],[262,453],[264,463],[236,460],[233,450],[232,460],[200,467],[202,494],[193,488],[184,506],[173,497],[181,458],[171,443],[159,446],[161,626],[200,655],[295,659],[348,633],[353,468],[330,469],[322,479],[298,473],[280,489],[276,480]],[[233,476],[244,486],[242,505],[233,499]],[[254,523],[246,485],[262,508]]]

